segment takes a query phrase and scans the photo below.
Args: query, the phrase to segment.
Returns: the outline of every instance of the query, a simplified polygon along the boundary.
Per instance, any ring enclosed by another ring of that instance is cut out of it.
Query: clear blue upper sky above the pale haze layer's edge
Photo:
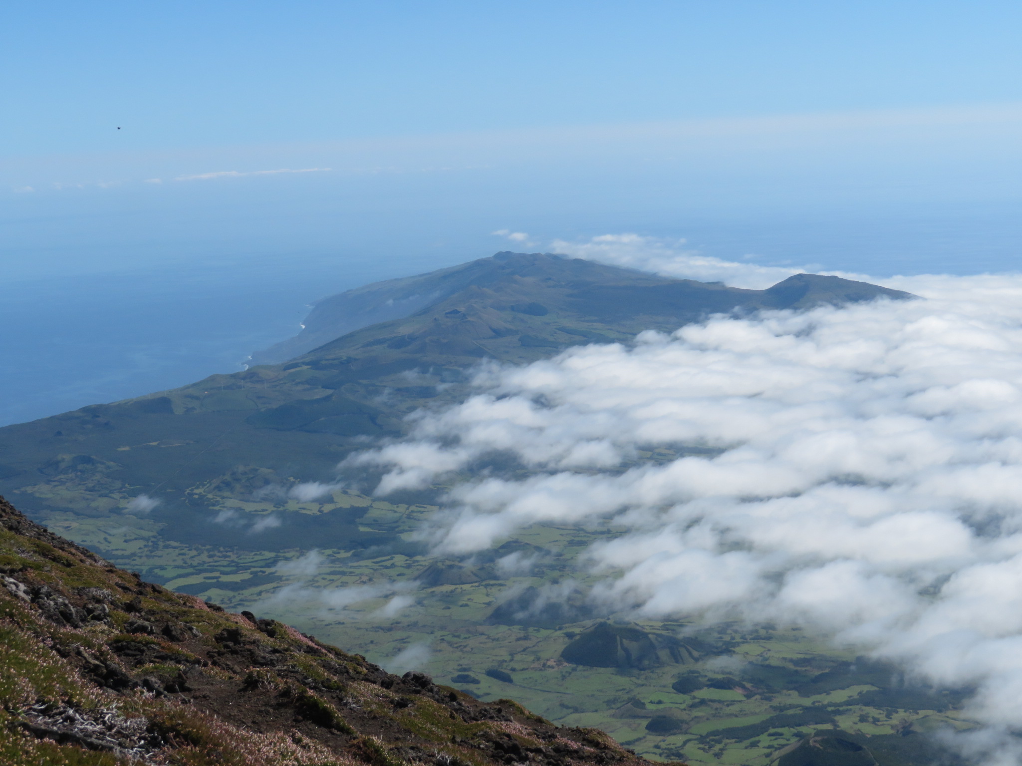
[[[153,151],[1014,101],[1020,21],[1017,3],[915,0],[17,3],[0,143]]]

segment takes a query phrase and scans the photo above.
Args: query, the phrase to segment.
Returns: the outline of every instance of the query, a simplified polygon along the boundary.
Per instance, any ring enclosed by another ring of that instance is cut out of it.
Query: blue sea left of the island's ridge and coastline
[[[378,261],[254,260],[4,284],[0,424],[242,370],[251,351],[298,331],[310,300],[389,274]]]

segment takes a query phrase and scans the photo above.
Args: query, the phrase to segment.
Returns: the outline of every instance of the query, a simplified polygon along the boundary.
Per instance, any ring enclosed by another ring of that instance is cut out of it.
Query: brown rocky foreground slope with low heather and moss
[[[0,497],[0,762],[647,764],[117,569]]]

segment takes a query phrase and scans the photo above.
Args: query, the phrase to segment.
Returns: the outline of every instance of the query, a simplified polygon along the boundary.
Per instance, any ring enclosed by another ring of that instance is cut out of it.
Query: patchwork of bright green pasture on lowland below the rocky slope
[[[529,546],[525,549],[537,558],[528,572],[502,575],[491,564],[470,560],[465,568],[474,581],[407,591],[409,606],[390,614],[387,605],[399,591],[383,591],[347,606],[331,606],[322,594],[351,586],[409,583],[422,576],[436,562],[413,538],[420,525],[428,524],[435,507],[392,504],[344,491],[334,492],[322,504],[205,499],[216,508],[256,516],[364,510],[359,528],[386,534],[391,543],[379,555],[372,548],[323,547],[315,573],[297,574],[286,564],[299,559],[300,550],[168,541],[158,534],[157,523],[133,515],[54,514],[49,525],[114,563],[137,569],[145,578],[234,611],[247,609],[287,622],[384,667],[393,668],[394,658],[404,650],[421,648],[428,653],[423,669],[440,682],[481,700],[514,699],[560,724],[597,726],[653,759],[765,766],[785,748],[819,729],[900,745],[910,737],[921,740],[942,727],[972,725],[957,712],[960,695],[899,689],[897,683],[878,676],[876,669],[829,677],[835,667],[853,666],[854,649],[835,648],[825,636],[798,626],[736,622],[705,627],[691,619],[637,622],[628,615],[601,615],[556,626],[493,621],[494,610],[509,592],[567,579],[585,590],[591,578],[574,560],[590,542],[619,533],[606,525],[525,529],[506,547]],[[628,622],[650,634],[690,636],[701,651],[695,659],[646,668],[565,662],[564,648],[603,619]],[[487,670],[504,671],[513,682],[491,677]],[[688,693],[671,688],[680,676],[693,674],[706,685]],[[470,682],[457,680],[466,677]],[[714,682],[725,687],[710,685]],[[734,685],[727,687],[730,682]],[[648,730],[653,718],[670,719],[675,729]],[[892,764],[913,763],[900,752],[891,759]]]

